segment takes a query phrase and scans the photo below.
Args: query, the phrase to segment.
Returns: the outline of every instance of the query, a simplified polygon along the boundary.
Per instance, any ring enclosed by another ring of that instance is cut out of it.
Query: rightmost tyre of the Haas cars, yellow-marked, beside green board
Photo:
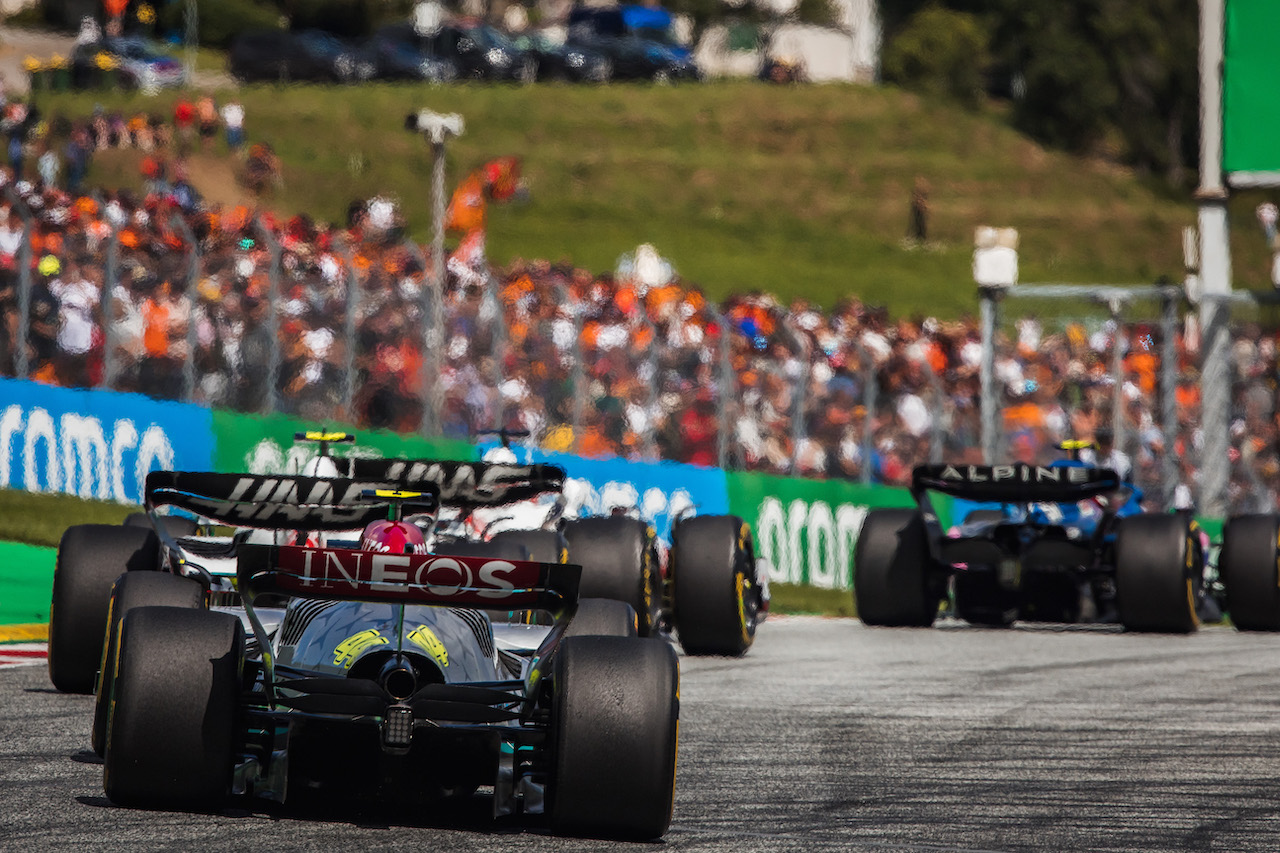
[[[760,585],[751,529],[730,515],[700,515],[672,530],[672,608],[689,654],[741,657],[755,640]]]

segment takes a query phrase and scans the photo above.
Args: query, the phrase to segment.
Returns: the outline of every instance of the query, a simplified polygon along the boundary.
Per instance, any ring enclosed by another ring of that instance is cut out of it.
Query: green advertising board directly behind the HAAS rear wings
[[[253,474],[288,474],[302,470],[319,446],[294,442],[293,435],[314,429],[346,429],[356,433],[356,443],[335,446],[335,453],[389,459],[474,460],[476,448],[449,438],[401,435],[380,429],[317,425],[284,415],[242,415],[214,411],[214,469]],[[343,450],[347,448],[347,450]]]

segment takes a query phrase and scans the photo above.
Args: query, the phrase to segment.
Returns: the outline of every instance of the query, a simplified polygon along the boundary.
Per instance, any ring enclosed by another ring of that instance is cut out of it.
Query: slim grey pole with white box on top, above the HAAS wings
[[[431,279],[435,288],[435,311],[424,323],[422,333],[422,433],[439,435],[443,421],[443,396],[440,392],[444,388],[440,383],[440,373],[444,368],[444,146],[451,138],[462,136],[463,123],[462,117],[457,113],[440,114],[421,110],[411,114],[404,126],[410,131],[424,134],[431,145],[431,218],[434,228]],[[426,391],[428,380],[431,383],[430,393]]]

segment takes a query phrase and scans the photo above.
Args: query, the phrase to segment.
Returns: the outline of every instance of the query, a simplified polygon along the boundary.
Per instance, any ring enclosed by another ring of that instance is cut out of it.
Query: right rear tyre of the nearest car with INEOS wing
[[[571,637],[556,651],[552,684],[552,829],[660,838],[675,806],[675,649],[652,638]]]

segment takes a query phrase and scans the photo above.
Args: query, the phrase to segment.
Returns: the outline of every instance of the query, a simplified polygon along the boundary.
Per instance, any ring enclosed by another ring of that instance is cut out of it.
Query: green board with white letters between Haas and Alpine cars
[[[867,511],[915,506],[901,488],[726,473],[730,512],[751,525],[769,580],[826,589],[852,587],[854,544]]]

